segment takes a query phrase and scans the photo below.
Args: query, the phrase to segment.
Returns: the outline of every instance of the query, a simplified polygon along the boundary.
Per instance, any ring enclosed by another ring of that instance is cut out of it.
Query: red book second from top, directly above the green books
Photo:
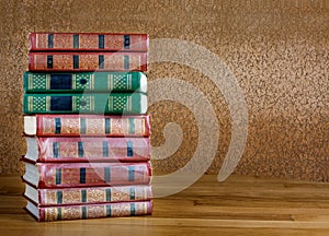
[[[147,52],[29,52],[30,71],[147,71]]]

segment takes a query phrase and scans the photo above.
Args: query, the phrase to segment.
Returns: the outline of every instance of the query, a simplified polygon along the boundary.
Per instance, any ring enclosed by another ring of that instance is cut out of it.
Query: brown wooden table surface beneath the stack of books
[[[37,223],[19,176],[0,177],[0,235],[329,235],[329,184],[205,175],[151,216]]]

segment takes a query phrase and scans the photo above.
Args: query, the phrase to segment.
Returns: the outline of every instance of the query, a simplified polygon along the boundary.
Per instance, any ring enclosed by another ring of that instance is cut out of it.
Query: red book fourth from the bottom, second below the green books
[[[141,162],[150,160],[149,137],[25,137],[33,162]]]

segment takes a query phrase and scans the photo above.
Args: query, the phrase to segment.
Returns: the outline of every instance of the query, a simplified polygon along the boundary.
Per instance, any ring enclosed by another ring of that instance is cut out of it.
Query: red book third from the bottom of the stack
[[[23,180],[35,188],[97,187],[150,184],[149,162],[33,163],[23,158]]]

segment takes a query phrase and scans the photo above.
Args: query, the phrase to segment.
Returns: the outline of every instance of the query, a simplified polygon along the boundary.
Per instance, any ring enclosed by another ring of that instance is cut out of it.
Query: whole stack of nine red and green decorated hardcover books
[[[25,209],[38,221],[151,214],[148,36],[29,37]]]

